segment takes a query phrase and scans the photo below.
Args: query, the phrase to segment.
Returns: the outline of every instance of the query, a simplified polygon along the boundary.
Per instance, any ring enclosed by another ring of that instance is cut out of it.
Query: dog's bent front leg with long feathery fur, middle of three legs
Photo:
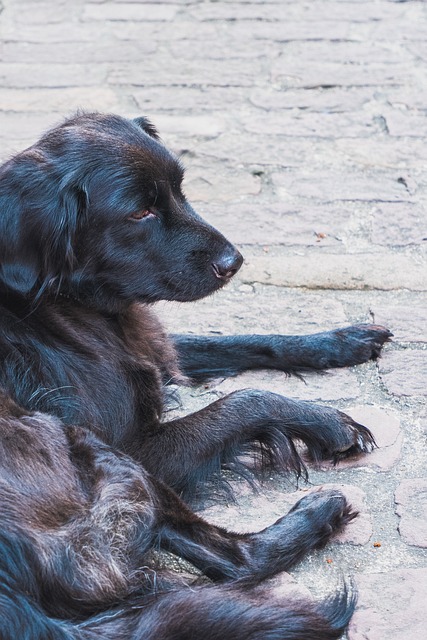
[[[295,441],[302,441],[315,461],[336,461],[375,446],[370,431],[341,411],[246,389],[154,426],[135,443],[134,455],[169,486],[191,491],[251,449],[261,451],[273,468],[301,475],[305,467]]]

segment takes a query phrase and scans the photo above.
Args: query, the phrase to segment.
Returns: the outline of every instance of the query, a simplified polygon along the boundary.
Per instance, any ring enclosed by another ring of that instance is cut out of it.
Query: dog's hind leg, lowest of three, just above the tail
[[[320,490],[306,495],[263,531],[238,534],[198,517],[161,483],[156,499],[161,509],[155,526],[162,548],[192,562],[216,582],[239,580],[245,585],[288,570],[357,515],[340,491]]]

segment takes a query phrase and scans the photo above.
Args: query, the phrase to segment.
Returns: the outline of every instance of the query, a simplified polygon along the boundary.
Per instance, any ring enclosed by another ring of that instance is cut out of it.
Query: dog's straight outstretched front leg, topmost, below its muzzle
[[[356,325],[309,336],[184,336],[172,339],[183,372],[194,380],[246,369],[298,371],[361,364],[380,355],[392,336],[385,327]]]

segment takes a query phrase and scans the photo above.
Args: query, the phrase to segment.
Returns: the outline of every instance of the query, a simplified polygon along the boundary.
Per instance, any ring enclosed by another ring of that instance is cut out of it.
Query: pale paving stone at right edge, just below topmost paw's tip
[[[392,395],[427,395],[427,351],[390,351],[387,357],[380,360],[379,370],[383,383]]]

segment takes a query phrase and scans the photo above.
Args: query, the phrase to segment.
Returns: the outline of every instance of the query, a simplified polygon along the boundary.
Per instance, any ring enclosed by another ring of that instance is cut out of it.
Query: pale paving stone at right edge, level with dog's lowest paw
[[[402,480],[395,493],[403,540],[427,548],[427,478]]]

